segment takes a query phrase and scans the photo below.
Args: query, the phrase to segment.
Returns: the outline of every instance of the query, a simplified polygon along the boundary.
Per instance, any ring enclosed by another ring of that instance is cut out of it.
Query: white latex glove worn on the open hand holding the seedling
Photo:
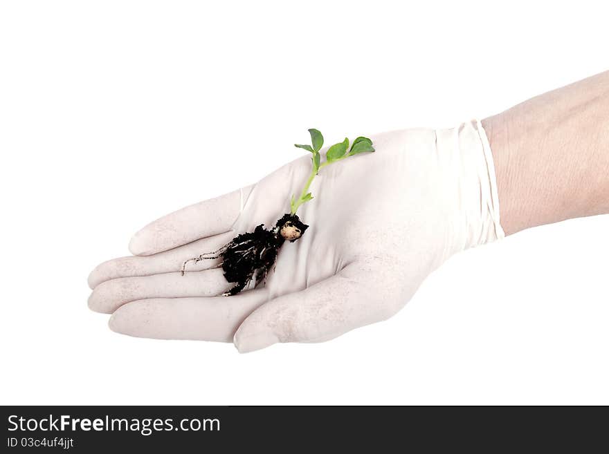
[[[89,306],[113,313],[116,332],[156,339],[234,341],[240,352],[276,342],[326,341],[387,319],[455,252],[504,236],[493,160],[480,122],[372,137],[376,153],[325,167],[298,216],[310,225],[284,243],[266,286],[231,286],[202,261],[183,261],[267,227],[286,212],[311,171],[310,155],[256,185],[206,200],[147,225],[135,256],[89,276]]]

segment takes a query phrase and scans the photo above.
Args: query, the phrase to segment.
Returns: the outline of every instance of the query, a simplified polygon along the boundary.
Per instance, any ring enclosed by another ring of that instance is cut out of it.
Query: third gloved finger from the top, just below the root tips
[[[180,298],[188,296],[217,296],[226,292],[221,268],[206,271],[155,274],[154,276],[112,279],[98,285],[89,296],[89,308],[111,314],[131,301],[152,298]]]

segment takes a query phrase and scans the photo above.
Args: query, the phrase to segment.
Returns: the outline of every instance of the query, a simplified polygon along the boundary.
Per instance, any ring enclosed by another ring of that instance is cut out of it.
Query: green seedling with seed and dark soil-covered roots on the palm
[[[338,142],[329,147],[326,153],[326,159],[321,161],[320,149],[323,146],[323,136],[317,129],[309,129],[311,135],[311,145],[294,146],[307,150],[311,156],[311,174],[302,189],[300,196],[292,196],[290,200],[290,212],[280,218],[275,227],[265,229],[264,224],[258,225],[254,231],[239,234],[235,236],[229,243],[221,247],[215,252],[201,254],[198,257],[190,258],[182,265],[182,276],[186,272],[186,265],[190,262],[199,263],[200,261],[221,258],[220,265],[224,270],[226,281],[235,283],[224,296],[235,295],[241,292],[246,285],[255,280],[254,287],[264,282],[269,269],[273,267],[279,254],[279,249],[285,241],[293,243],[305,234],[309,228],[308,225],[302,223],[296,215],[296,211],[303,203],[313,200],[313,196],[309,192],[311,183],[318,175],[319,171],[324,167],[334,164],[343,159],[359,153],[368,153],[374,151],[372,140],[365,137],[358,137],[351,144],[349,149],[349,139],[345,138],[343,142]],[[348,150],[348,151],[347,151]]]

